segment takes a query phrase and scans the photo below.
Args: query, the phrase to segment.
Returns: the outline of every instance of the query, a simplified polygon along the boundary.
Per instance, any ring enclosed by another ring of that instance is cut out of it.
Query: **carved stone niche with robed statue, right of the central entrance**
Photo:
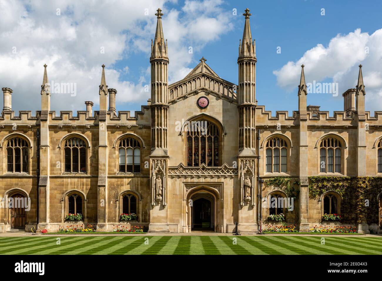
[[[240,159],[240,206],[244,206],[244,201],[255,205],[255,159]]]

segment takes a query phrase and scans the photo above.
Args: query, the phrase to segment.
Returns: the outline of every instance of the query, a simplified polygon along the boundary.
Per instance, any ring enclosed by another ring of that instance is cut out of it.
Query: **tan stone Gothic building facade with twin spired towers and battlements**
[[[344,212],[345,194],[335,188],[315,198],[309,194],[311,177],[382,175],[382,112],[373,117],[365,111],[361,65],[356,88],[343,94],[342,111],[330,116],[307,105],[302,65],[298,110],[293,116],[287,111],[272,116],[256,100],[256,46],[248,9],[238,85],[220,78],[204,57],[183,80],[168,85],[171,58],[163,14],[159,9],[155,15],[151,99],[134,116],[116,112],[117,90],[108,87],[104,65],[99,111],[92,110],[91,101],[76,116],[51,111],[47,65],[35,116],[31,111],[15,115],[12,90],[2,88],[0,232],[33,226],[54,232],[70,224],[65,221],[69,213],[81,213],[79,223],[97,231],[127,224],[149,232],[233,232],[238,222],[238,230],[248,233],[269,223],[270,214],[286,213],[286,223],[306,231],[336,224],[322,221],[324,213]],[[275,178],[290,179],[295,193],[275,184]],[[373,207],[378,218],[381,191],[369,198],[378,202]],[[293,198],[293,211],[270,205],[274,198]],[[8,204],[21,199],[27,208]],[[122,213],[138,218],[120,222]],[[380,219],[359,218],[348,224],[380,231]]]

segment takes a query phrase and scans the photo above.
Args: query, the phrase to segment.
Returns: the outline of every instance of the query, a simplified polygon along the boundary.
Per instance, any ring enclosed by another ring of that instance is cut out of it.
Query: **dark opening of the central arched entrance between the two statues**
[[[211,201],[199,198],[193,202],[193,231],[214,231]]]

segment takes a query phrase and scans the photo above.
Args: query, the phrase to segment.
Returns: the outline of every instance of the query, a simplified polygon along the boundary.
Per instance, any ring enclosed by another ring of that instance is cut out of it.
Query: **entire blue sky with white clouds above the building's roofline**
[[[354,88],[358,65],[362,63],[366,110],[382,109],[379,1],[115,1],[104,7],[97,7],[100,2],[67,3],[62,6],[59,1],[49,5],[0,1],[12,15],[12,19],[2,19],[8,22],[0,28],[0,38],[6,42],[0,47],[0,85],[13,89],[14,110],[39,110],[45,62],[50,80],[77,85],[74,97],[52,94],[52,110],[84,110],[83,102],[89,99],[95,102],[97,110],[102,63],[106,65],[109,88],[118,91],[117,110],[140,110],[149,97],[143,88],[150,79],[149,46],[158,6],[164,13],[163,32],[168,38],[170,83],[183,78],[204,56],[221,78],[237,84],[242,14],[248,7],[256,40],[256,98],[259,105],[272,110],[272,115],[276,110],[288,110],[290,115],[297,110],[301,62],[307,83],[316,80],[336,82],[339,86],[337,97],[308,94],[308,104],[319,105],[330,115],[333,110],[343,110],[341,94]],[[57,7],[60,17],[56,15]],[[321,15],[322,8],[325,15]],[[233,9],[237,9],[236,16]],[[149,15],[143,15],[144,11]],[[18,17],[23,17],[21,23]],[[15,24],[11,25],[13,20]],[[36,36],[24,34],[21,27],[25,29],[25,25]],[[11,47],[18,45],[25,51],[10,54]],[[97,54],[94,49],[103,45],[106,54]],[[193,54],[188,54],[188,46],[193,47]],[[276,52],[277,47],[281,47],[281,54]],[[25,73],[15,75],[16,69]],[[32,93],[37,99],[28,101]]]

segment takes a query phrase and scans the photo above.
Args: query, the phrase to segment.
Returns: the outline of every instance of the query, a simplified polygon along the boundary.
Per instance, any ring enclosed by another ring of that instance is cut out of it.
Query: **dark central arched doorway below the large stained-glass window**
[[[191,231],[214,231],[214,198],[209,193],[197,193],[191,199]]]

